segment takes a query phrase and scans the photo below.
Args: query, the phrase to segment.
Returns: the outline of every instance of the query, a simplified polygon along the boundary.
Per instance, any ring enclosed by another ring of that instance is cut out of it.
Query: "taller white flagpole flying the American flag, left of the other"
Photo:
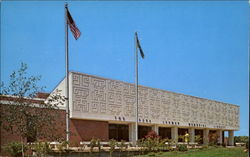
[[[69,142],[69,49],[68,49],[68,4],[65,3],[65,66],[66,66],[66,141]]]

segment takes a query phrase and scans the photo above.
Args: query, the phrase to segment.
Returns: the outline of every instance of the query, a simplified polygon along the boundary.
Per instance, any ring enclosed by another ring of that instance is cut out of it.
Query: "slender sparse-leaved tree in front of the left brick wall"
[[[20,69],[10,75],[9,84],[1,83],[0,95],[11,98],[9,105],[2,106],[4,116],[1,116],[1,125],[5,130],[20,135],[22,143],[37,138],[56,140],[61,137],[59,125],[55,124],[55,118],[60,116],[56,111],[65,98],[56,91],[45,102],[37,102],[37,93],[44,89],[37,85],[41,76],[29,76],[27,68],[21,63]]]

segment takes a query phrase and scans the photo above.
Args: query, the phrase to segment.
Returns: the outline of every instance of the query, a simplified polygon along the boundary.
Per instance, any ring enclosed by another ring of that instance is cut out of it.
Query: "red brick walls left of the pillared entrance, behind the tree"
[[[43,96],[43,95],[42,95]],[[45,98],[39,96],[39,98]],[[14,102],[15,98],[11,97],[3,97],[0,96],[1,101]],[[27,100],[32,103],[43,103],[42,100]],[[6,108],[8,104],[0,104],[0,118],[6,116]],[[32,110],[41,110],[41,108],[32,108]],[[54,132],[50,134],[56,134],[57,138],[61,140],[66,139],[66,111],[61,109],[55,109],[49,111],[51,114],[55,116],[55,124]],[[2,120],[2,119],[1,119]],[[4,122],[3,122],[4,123]],[[109,123],[106,121],[93,121],[93,120],[79,120],[79,119],[70,119],[70,145],[76,146],[79,145],[81,141],[90,141],[92,138],[98,138],[102,141],[107,141],[109,139]],[[45,141],[56,141],[55,139],[48,138],[39,138],[37,140],[45,140]],[[21,136],[12,133],[10,131],[6,131],[3,128],[3,125],[0,127],[0,146],[3,147],[9,142],[13,141],[21,141]],[[27,141],[24,139],[23,141]],[[0,155],[3,155],[3,151],[1,150]]]

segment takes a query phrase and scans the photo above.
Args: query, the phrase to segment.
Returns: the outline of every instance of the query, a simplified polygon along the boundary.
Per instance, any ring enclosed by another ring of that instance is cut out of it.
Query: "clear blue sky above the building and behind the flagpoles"
[[[240,106],[248,135],[247,1],[77,1],[69,10],[70,70],[134,82],[134,32],[145,59],[139,84]],[[65,76],[64,2],[1,3],[1,80],[21,62],[50,92]]]

